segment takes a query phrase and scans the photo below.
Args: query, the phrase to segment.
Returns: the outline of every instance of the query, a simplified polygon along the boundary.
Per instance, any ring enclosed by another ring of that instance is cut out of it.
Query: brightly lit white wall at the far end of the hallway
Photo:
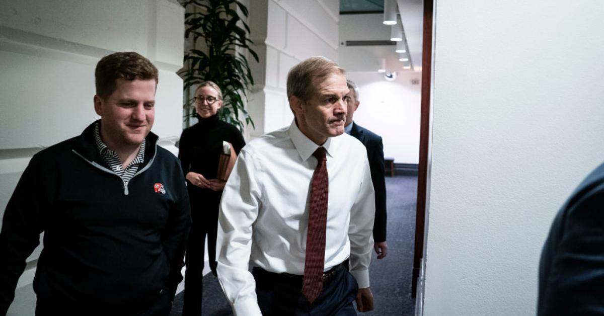
[[[398,73],[388,82],[376,71],[351,71],[346,77],[359,86],[359,101],[354,120],[380,135],[384,156],[395,163],[417,164],[421,110],[420,73]],[[416,85],[411,80],[418,80]]]

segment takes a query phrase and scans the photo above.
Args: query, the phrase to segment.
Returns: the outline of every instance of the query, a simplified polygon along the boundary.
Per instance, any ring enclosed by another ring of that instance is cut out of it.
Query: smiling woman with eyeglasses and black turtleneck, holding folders
[[[193,225],[185,253],[185,289],[182,315],[201,315],[202,278],[204,269],[204,243],[208,235],[210,268],[216,276],[216,230],[218,208],[225,182],[217,172],[223,141],[233,145],[234,152],[245,145],[237,127],[219,120],[217,112],[222,106],[222,91],[216,83],[199,84],[195,91],[196,117],[199,123],[182,131],[178,158],[187,179]]]

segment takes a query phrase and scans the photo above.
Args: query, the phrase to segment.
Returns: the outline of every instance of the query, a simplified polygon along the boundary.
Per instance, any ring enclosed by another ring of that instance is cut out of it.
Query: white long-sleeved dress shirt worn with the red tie
[[[295,121],[241,150],[220,202],[216,257],[235,315],[261,315],[248,262],[304,274],[310,180],[319,146]],[[324,271],[350,256],[359,288],[369,286],[375,201],[365,147],[350,135],[327,138],[329,193]]]

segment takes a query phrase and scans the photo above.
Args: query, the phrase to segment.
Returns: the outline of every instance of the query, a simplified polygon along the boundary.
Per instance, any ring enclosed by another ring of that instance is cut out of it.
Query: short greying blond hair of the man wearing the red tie
[[[343,75],[345,71],[337,63],[323,56],[313,56],[303,60],[289,70],[288,98],[295,96],[304,103],[308,102],[316,92],[315,86],[312,84],[313,81],[321,80],[332,73]]]

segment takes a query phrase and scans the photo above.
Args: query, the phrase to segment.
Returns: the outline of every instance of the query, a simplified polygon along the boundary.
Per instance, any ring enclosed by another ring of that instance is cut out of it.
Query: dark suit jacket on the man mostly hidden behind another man
[[[384,145],[382,138],[352,122],[350,135],[367,148],[371,181],[376,192],[376,217],[373,224],[374,242],[386,241],[386,182],[384,180]]]

